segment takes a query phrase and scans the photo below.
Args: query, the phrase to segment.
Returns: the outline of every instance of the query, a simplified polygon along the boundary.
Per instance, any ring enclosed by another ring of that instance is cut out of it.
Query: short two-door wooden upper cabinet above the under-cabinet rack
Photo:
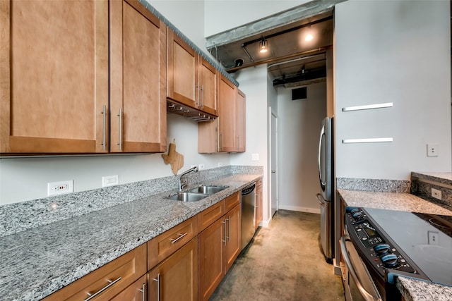
[[[167,97],[218,116],[217,70],[170,29],[167,53]]]

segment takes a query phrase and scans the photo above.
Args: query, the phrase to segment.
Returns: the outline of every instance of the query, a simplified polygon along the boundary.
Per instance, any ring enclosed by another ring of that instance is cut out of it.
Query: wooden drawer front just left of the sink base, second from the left
[[[148,270],[198,235],[198,216],[179,223],[148,241]]]

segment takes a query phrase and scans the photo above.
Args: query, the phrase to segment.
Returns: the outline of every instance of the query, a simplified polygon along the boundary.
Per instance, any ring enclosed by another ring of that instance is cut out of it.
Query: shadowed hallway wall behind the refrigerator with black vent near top
[[[326,117],[326,82],[307,86],[307,99],[292,101],[292,89],[278,88],[279,207],[320,213],[317,152]]]

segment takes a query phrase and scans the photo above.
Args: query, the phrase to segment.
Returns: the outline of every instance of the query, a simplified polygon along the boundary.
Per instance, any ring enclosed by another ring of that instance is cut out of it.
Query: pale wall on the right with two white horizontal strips
[[[410,178],[451,171],[449,1],[345,1],[335,6],[336,176]],[[393,102],[393,108],[343,107]],[[393,137],[344,145],[343,139]],[[427,157],[427,143],[439,156]]]

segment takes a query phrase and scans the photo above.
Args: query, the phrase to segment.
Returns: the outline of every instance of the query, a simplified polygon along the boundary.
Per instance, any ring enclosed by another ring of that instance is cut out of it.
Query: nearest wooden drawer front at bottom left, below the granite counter
[[[85,300],[89,297],[88,293],[94,295],[104,288],[105,290],[92,300],[109,300],[145,273],[146,245],[143,244],[44,300]]]

